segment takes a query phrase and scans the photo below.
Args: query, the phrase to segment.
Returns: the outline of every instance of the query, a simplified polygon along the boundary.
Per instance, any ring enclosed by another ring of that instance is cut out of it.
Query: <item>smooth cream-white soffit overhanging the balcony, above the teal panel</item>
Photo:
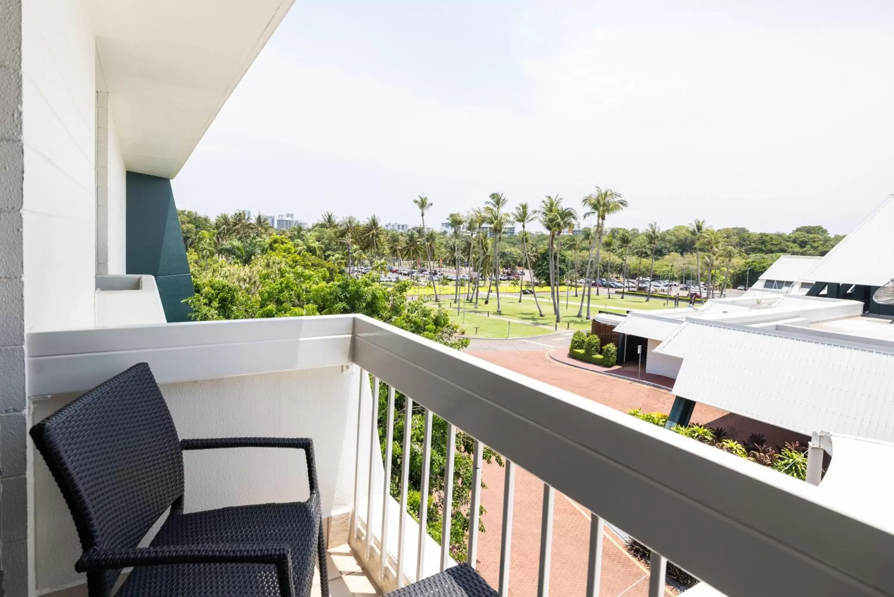
[[[173,178],[292,2],[88,0],[124,166]]]

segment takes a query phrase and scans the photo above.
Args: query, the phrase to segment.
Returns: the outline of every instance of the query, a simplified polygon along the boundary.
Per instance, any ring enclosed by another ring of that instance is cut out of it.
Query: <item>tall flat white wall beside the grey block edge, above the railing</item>
[[[25,330],[93,324],[95,45],[80,0],[22,0]]]

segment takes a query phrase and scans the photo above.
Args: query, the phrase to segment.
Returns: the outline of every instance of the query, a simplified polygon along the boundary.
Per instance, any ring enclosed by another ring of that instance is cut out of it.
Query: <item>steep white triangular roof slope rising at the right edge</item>
[[[883,286],[894,277],[894,196],[804,274],[818,282]]]

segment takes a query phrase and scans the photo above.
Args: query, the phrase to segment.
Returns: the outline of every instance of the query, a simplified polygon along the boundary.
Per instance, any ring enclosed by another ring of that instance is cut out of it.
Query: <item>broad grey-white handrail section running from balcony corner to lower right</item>
[[[894,535],[813,485],[359,315],[351,360],[724,593],[894,586]]]

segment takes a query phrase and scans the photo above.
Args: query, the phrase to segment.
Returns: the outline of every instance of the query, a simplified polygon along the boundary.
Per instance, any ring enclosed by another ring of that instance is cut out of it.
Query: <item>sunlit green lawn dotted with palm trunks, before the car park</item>
[[[445,295],[444,298],[452,298],[452,295]],[[536,334],[547,334],[553,331],[552,324],[554,323],[554,316],[552,314],[552,304],[550,303],[550,295],[548,292],[546,293],[537,293],[537,299],[540,301],[540,308],[544,311],[544,317],[540,317],[537,312],[536,305],[534,303],[534,297],[530,294],[525,294],[522,298],[521,303],[519,303],[519,295],[518,294],[502,294],[500,306],[502,308],[502,317],[509,318],[511,320],[521,320],[521,321],[530,321],[532,323],[540,323],[545,325],[524,325],[521,323],[513,323],[510,326],[510,337],[519,337],[519,336],[534,336]],[[441,303],[444,308],[448,308],[453,305],[451,301],[443,301]],[[491,300],[489,303],[485,304],[484,296],[480,298],[478,301],[478,312],[472,311],[473,303],[466,303],[466,324],[464,327],[466,328],[466,333],[468,337],[475,337],[475,328],[474,326],[480,325],[478,328],[478,337],[507,337],[506,336],[506,321],[495,319],[493,316],[496,315],[497,302],[496,302],[496,294],[491,294]],[[460,303],[461,305],[461,303]],[[575,300],[574,290],[572,289],[569,293],[569,302],[568,308],[565,308],[565,294],[561,295],[561,303],[560,303],[560,311],[561,311],[561,323],[559,324],[559,329],[590,329],[590,322],[586,320],[586,303],[584,305],[584,317],[578,317],[578,307],[580,305],[580,296],[578,295],[577,300]],[[680,309],[685,309],[687,303],[685,301],[680,301]],[[604,288],[601,289],[601,294],[596,296],[594,293],[590,300],[590,314],[595,315],[598,311],[614,311],[618,313],[623,313],[624,310],[627,309],[665,309],[671,308],[673,306],[672,301],[668,301],[667,306],[665,306],[663,299],[652,298],[648,303],[645,302],[644,296],[629,296],[623,299],[620,298],[620,294],[615,296],[614,293],[611,294],[611,298],[607,298],[604,294]],[[485,311],[490,311],[492,317],[488,318],[485,316]],[[462,312],[460,310],[460,319],[456,319],[456,307],[453,306],[453,310],[451,311],[451,318],[454,321],[460,322],[462,321]],[[474,318],[474,320],[473,320]],[[475,321],[473,323],[473,321]],[[481,323],[479,324],[478,321]]]

